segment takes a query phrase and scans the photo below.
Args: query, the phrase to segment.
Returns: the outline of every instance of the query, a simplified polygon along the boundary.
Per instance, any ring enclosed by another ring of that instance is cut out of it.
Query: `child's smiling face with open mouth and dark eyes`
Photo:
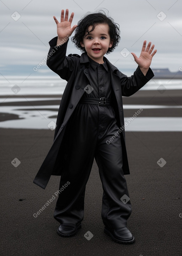
[[[92,26],[89,26],[88,30],[90,31],[91,29]],[[110,40],[108,24],[97,24],[89,34],[85,33],[80,44],[85,47],[87,55],[92,60],[103,64],[103,56],[113,44]]]

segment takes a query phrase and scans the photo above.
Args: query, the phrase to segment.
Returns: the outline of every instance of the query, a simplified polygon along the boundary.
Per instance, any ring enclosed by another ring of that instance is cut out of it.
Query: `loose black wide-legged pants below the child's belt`
[[[111,229],[127,225],[132,209],[130,200],[127,203],[121,201],[122,196],[129,197],[129,194],[122,170],[118,130],[112,106],[76,106],[64,137],[66,171],[61,175],[60,194],[54,212],[54,218],[60,224],[76,224],[83,220],[85,187],[95,157],[103,187],[103,223]],[[116,132],[118,135],[112,137]]]

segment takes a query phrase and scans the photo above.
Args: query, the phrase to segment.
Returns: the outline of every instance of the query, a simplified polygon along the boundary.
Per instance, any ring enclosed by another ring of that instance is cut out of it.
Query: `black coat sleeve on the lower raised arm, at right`
[[[145,76],[141,72],[139,66],[135,70],[134,74],[130,77],[127,77],[126,75],[124,75],[122,72],[119,71],[122,96],[128,97],[133,95],[141,87],[143,87],[153,76],[154,76],[154,73],[152,72],[150,67]]]

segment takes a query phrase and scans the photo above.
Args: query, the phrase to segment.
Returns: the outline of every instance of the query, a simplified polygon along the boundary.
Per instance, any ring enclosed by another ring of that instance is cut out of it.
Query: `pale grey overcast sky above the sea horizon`
[[[132,75],[137,64],[132,54],[124,57],[121,51],[127,48],[139,57],[144,40],[157,49],[151,68],[177,72],[182,66],[182,0],[0,0],[0,76],[57,76],[46,64],[37,72],[33,67],[47,56],[48,42],[57,36],[53,15],[60,21],[66,8],[69,16],[75,13],[72,26],[87,12],[109,11],[120,25],[121,41],[105,56],[124,74]],[[81,55],[71,40],[70,53]]]

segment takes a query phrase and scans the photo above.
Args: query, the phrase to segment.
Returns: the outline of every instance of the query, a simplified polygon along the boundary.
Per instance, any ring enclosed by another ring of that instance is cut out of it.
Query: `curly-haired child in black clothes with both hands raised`
[[[143,43],[138,67],[131,77],[104,56],[118,45],[119,27],[102,12],[89,14],[71,28],[68,9],[56,17],[57,37],[49,42],[47,65],[68,81],[61,99],[54,143],[34,183],[45,189],[51,175],[61,175],[54,218],[60,236],[73,236],[84,217],[85,186],[95,157],[103,187],[104,232],[116,242],[131,244],[127,229],[132,209],[124,175],[129,174],[125,149],[122,96],[137,92],[153,76],[154,45]],[[76,29],[76,30],[75,30]],[[69,36],[83,53],[66,56]],[[151,46],[151,47],[150,47]],[[56,195],[55,193],[55,195]]]

